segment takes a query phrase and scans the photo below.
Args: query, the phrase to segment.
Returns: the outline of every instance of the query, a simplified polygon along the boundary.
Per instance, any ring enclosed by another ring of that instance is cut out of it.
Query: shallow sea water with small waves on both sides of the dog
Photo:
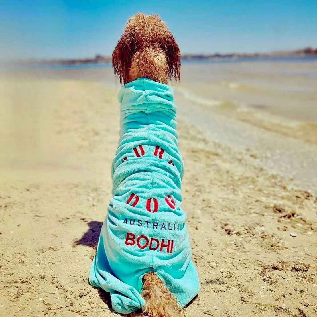
[[[120,88],[109,63],[0,68],[0,76]],[[203,111],[317,144],[317,56],[183,61],[181,82],[172,85]]]

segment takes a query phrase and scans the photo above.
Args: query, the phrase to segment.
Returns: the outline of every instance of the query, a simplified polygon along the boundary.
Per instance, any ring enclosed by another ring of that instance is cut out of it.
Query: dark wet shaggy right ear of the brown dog
[[[181,55],[179,47],[172,35],[168,36],[165,41],[161,43],[161,49],[163,49],[167,58],[167,66],[169,69],[168,78],[174,78],[176,81],[179,81]]]

